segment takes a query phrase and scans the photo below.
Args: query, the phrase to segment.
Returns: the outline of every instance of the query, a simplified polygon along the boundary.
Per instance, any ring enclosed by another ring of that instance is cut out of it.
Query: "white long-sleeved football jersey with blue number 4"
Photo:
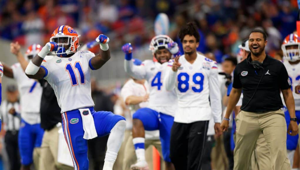
[[[174,90],[167,91],[163,85],[167,62],[161,64],[152,60],[143,61],[135,66],[133,61],[125,60],[125,71],[136,79],[146,79],[149,83],[149,108],[158,112],[174,116],[177,108],[177,97]]]

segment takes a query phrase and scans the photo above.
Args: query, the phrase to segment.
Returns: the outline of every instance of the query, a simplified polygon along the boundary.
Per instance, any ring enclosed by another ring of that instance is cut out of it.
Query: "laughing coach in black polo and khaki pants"
[[[254,29],[249,35],[251,53],[234,70],[232,90],[229,95],[226,115],[221,124],[223,130],[229,126],[229,116],[241,92],[241,112],[236,116],[236,141],[234,170],[246,170],[260,133],[263,133],[270,151],[271,167],[274,170],[290,169],[286,152],[286,121],[280,92],[289,110],[288,133],[298,133],[295,102],[286,68],[283,63],[265,53],[267,36],[264,31]]]

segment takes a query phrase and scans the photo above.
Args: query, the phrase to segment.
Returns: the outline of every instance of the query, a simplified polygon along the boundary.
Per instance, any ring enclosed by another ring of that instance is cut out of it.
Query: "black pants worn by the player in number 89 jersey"
[[[176,170],[200,170],[208,121],[174,122],[171,130],[170,158]]]

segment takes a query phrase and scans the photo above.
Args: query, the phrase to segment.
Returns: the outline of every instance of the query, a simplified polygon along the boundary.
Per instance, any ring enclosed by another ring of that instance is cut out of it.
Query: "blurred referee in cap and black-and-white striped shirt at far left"
[[[7,100],[1,104],[1,118],[6,134],[4,137],[5,149],[8,155],[10,170],[19,170],[21,166],[18,133],[21,123],[19,92],[15,85],[8,85]]]

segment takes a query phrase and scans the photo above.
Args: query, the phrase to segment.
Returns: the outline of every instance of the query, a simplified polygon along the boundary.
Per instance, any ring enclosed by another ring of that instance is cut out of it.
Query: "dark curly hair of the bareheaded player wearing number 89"
[[[194,36],[196,38],[196,42],[199,42],[200,35],[198,32],[198,28],[194,22],[188,22],[186,25],[184,25],[180,31],[179,31],[179,38],[180,41],[183,41],[184,36],[190,35]]]

